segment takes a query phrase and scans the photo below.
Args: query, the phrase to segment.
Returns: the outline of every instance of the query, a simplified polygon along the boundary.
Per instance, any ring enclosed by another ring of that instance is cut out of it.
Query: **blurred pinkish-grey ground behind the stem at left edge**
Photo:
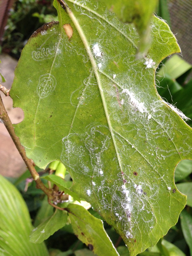
[[[0,72],[6,79],[2,83],[7,89],[11,88],[14,70],[17,65],[17,60],[9,55],[0,55]],[[4,106],[13,124],[19,123],[23,120],[23,111],[20,108],[12,108],[12,99],[6,97],[0,92],[4,102]],[[7,177],[19,177],[21,173],[26,170],[26,165],[23,162],[17,148],[15,147],[9,133],[7,132],[4,124],[0,123],[0,174]]]

